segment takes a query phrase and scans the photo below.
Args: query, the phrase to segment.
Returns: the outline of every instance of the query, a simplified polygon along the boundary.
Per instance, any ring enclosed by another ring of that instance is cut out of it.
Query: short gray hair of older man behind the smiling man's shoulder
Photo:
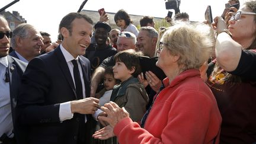
[[[16,47],[15,39],[17,37],[20,37],[21,39],[26,39],[29,36],[29,34],[28,34],[29,30],[37,31],[37,29],[33,25],[26,24],[26,23],[19,24],[14,29],[14,31],[12,31],[11,46],[13,49],[15,49],[15,47]]]

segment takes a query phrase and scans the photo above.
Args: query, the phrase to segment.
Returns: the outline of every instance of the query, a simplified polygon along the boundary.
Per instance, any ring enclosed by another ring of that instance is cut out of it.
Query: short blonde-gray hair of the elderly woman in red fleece
[[[178,23],[164,33],[162,43],[172,55],[180,55],[181,71],[199,69],[215,46],[213,29],[207,24]]]

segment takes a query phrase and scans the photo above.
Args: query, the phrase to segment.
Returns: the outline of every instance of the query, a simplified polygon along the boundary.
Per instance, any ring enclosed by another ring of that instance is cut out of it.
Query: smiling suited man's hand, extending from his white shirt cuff
[[[71,112],[80,114],[94,114],[100,107],[100,100],[97,98],[84,98],[81,100],[71,101]]]

